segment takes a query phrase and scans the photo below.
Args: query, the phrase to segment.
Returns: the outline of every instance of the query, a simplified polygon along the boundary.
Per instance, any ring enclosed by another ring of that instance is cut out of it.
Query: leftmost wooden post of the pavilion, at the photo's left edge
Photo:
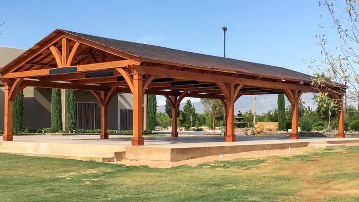
[[[3,141],[13,141],[12,134],[12,101],[10,100],[10,90],[11,85],[6,85],[4,87],[5,90],[5,108],[4,108],[4,135],[2,136]]]

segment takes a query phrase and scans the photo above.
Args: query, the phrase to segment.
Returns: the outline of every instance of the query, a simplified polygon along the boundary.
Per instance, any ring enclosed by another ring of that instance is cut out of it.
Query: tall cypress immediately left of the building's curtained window
[[[76,106],[74,90],[66,90],[65,130],[72,132],[76,129]]]

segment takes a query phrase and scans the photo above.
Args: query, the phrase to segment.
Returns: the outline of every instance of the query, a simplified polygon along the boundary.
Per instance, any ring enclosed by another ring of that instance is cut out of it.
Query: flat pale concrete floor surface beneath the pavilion
[[[73,135],[73,136],[14,136],[14,141],[25,142],[48,142],[48,143],[76,143],[76,144],[109,144],[109,145],[131,145],[130,135],[110,135],[107,140],[100,140],[99,135]],[[359,138],[312,138],[300,137],[299,140],[291,140],[289,137],[271,136],[237,136],[236,142],[225,142],[223,136],[204,136],[194,134],[180,134],[180,137],[145,137],[145,146],[184,148],[184,147],[206,147],[206,146],[231,146],[252,145],[289,142],[325,142],[358,140]]]

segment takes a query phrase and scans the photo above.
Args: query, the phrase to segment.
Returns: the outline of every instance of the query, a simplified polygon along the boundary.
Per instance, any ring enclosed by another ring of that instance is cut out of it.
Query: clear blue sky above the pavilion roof
[[[315,35],[330,24],[325,15],[315,0],[3,0],[0,46],[27,49],[61,28],[222,56],[227,26],[228,58],[310,73],[303,60],[321,59]]]

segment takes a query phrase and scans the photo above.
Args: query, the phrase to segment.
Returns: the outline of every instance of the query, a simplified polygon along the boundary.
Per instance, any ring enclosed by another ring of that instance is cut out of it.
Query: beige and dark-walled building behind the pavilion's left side
[[[24,49],[0,46],[0,67],[3,67]],[[2,83],[1,83],[2,85]],[[0,129],[4,128],[4,88],[0,87]],[[26,87],[24,90],[23,128],[44,128],[51,126],[51,89]],[[146,99],[146,96],[145,96]],[[96,98],[88,91],[75,91],[77,128],[100,129],[101,107]],[[65,90],[61,89],[62,125],[65,122]],[[146,103],[146,102],[144,102]],[[108,105],[108,129],[132,130],[132,94],[114,96]],[[144,106],[146,114],[146,106]],[[146,116],[144,128],[146,128]]]

